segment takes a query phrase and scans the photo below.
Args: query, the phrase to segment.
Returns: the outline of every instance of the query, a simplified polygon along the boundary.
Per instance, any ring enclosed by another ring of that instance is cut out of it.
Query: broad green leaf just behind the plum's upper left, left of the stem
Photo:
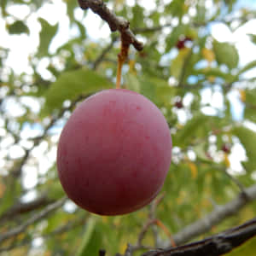
[[[106,78],[95,71],[79,69],[62,73],[56,81],[49,86],[45,97],[42,114],[49,114],[66,100],[74,100],[81,94],[88,95],[98,90],[112,88]]]

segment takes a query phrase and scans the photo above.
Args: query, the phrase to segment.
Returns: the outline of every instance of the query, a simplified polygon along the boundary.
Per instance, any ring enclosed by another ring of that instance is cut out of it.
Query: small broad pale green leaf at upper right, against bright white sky
[[[225,64],[230,69],[237,67],[239,55],[236,47],[229,43],[213,42],[213,51],[216,55],[218,64]]]

